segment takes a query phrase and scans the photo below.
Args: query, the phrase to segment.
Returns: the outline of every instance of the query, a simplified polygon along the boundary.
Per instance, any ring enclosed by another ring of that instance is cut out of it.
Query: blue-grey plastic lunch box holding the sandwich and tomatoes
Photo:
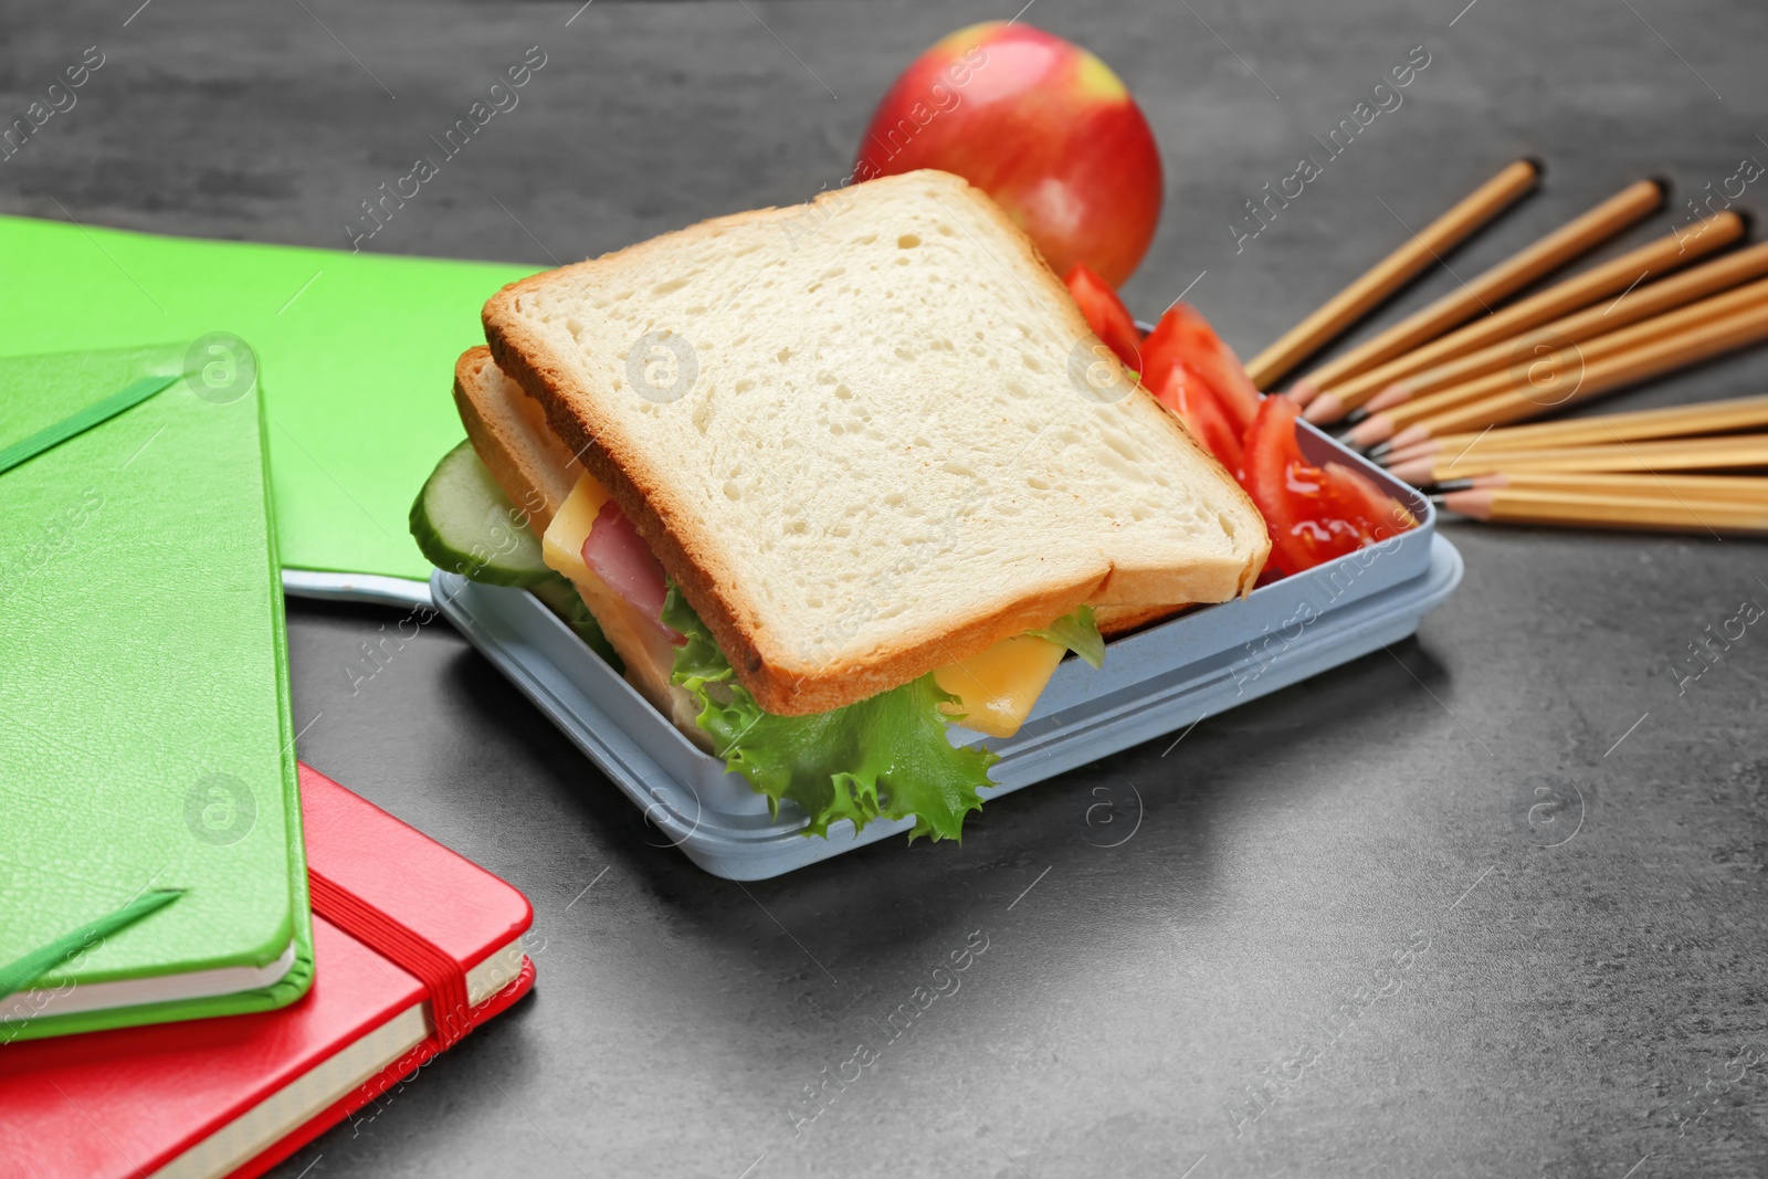
[[[1347,463],[1406,504],[1420,525],[1317,569],[1200,606],[1116,638],[1105,666],[1070,656],[1025,725],[985,737],[951,725],[953,744],[985,742],[1001,760],[985,802],[1121,749],[1193,725],[1246,700],[1406,638],[1460,582],[1455,546],[1436,532],[1436,511],[1414,488],[1301,422],[1305,458]],[[792,802],[769,813],[748,780],[725,771],[615,675],[532,594],[467,582],[437,569],[437,608],[654,824],[705,871],[762,880],[829,856],[903,838],[912,818],[850,820],[806,836]]]

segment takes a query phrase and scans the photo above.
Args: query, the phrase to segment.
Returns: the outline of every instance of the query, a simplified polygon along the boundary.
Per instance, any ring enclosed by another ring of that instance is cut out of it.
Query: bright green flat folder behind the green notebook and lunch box
[[[341,233],[339,233],[341,237]],[[34,352],[232,331],[267,375],[283,564],[428,578],[412,495],[463,437],[447,389],[479,309],[534,267],[0,217],[0,322]]]

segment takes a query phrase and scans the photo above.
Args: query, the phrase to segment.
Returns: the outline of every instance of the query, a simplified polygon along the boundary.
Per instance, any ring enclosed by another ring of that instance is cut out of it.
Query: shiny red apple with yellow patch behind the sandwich
[[[988,21],[914,60],[872,115],[854,180],[939,168],[1006,209],[1057,274],[1121,286],[1160,219],[1160,150],[1130,92],[1087,49]]]

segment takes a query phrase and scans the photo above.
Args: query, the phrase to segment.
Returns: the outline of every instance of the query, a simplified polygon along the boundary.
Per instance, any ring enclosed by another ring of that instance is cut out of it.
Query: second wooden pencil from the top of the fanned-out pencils
[[[1406,316],[1374,339],[1308,371],[1307,378],[1319,389],[1328,389],[1391,361],[1402,352],[1411,352],[1482,311],[1490,311],[1492,304],[1506,295],[1589,253],[1662,203],[1662,182],[1639,180],[1630,184],[1589,212],[1574,217],[1490,270],[1459,285],[1421,311]]]

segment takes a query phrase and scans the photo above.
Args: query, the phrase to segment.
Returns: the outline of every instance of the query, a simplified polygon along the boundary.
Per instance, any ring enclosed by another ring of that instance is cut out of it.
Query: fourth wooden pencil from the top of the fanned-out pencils
[[[1627,299],[1602,308],[1589,308],[1588,311],[1579,311],[1577,315],[1568,315],[1563,320],[1542,325],[1535,332],[1526,332],[1519,339],[1497,341],[1446,364],[1439,364],[1421,373],[1413,373],[1411,377],[1393,382],[1370,398],[1363,405],[1363,421],[1397,405],[1406,405],[1414,398],[1437,392],[1450,385],[1466,384],[1475,377],[1510,368],[1510,364],[1517,359],[1517,350],[1528,348],[1531,339],[1559,343],[1593,339],[1627,327],[1628,323],[1637,323],[1665,311],[1674,311],[1676,308],[1687,306],[1696,299],[1704,299],[1729,290],[1738,283],[1745,283],[1764,274],[1768,274],[1768,242],[1749,246],[1747,249],[1726,255],[1724,258],[1694,267],[1692,270],[1676,274],[1660,283],[1641,286],[1637,292],[1627,295]],[[1361,424],[1361,421],[1356,424]]]

